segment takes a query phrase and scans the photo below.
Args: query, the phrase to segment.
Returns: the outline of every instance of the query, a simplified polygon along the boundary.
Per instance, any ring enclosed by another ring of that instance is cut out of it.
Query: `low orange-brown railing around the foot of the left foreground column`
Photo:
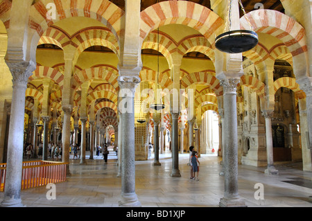
[[[66,166],[67,163],[53,161],[23,162],[21,190],[66,181]],[[5,184],[6,163],[0,163],[0,191],[4,191]]]

